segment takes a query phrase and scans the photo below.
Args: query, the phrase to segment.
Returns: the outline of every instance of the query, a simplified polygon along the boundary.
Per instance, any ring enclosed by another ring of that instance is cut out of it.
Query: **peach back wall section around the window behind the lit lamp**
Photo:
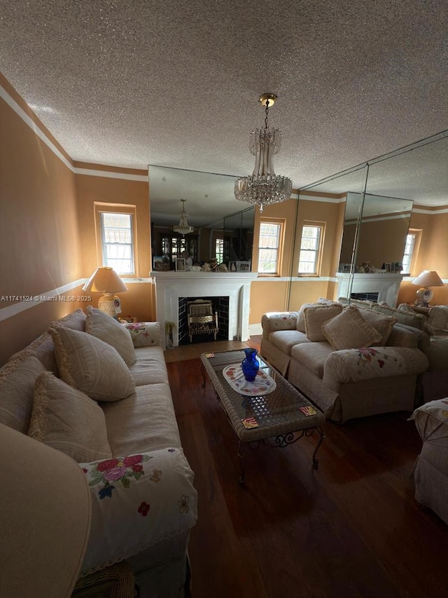
[[[78,168],[99,170],[94,164],[76,163]],[[104,168],[104,167],[103,167]],[[144,170],[117,169],[107,170],[130,175],[146,175]],[[135,205],[136,218],[136,250],[137,279],[148,279],[151,271],[151,230],[149,215],[148,182],[101,176],[76,175],[76,192],[78,198],[80,242],[83,257],[83,276],[89,278],[100,259],[97,255],[97,229],[94,220],[94,203]],[[153,285],[149,282],[132,282],[125,284],[128,291],[120,294],[123,315],[134,315],[141,321],[155,320],[155,304],[153,301]],[[95,294],[92,303],[96,305],[99,294]]]

